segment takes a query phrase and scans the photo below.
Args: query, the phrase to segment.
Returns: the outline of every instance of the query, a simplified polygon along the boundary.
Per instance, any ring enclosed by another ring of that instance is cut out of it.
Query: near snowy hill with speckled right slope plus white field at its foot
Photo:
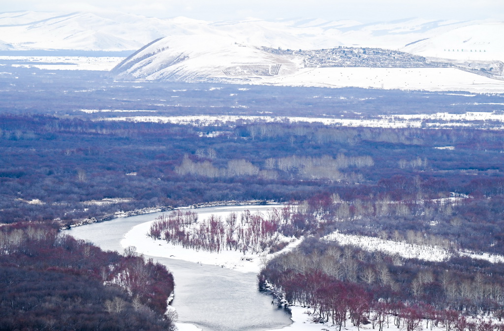
[[[504,92],[504,81],[399,51],[279,50],[215,35],[161,38],[122,61],[111,74],[141,81]]]

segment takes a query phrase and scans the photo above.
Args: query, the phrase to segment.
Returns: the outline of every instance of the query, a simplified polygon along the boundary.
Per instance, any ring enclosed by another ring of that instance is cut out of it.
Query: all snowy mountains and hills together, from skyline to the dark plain
[[[504,22],[496,21],[206,22],[116,12],[0,14],[2,54],[131,52],[111,75],[140,81],[502,91],[502,35]]]

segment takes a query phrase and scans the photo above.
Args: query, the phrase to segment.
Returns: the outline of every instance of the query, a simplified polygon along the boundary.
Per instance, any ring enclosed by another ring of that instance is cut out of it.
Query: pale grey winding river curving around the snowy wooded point
[[[204,216],[223,212],[266,212],[268,205],[205,207],[194,209]],[[134,226],[150,222],[163,213],[116,218],[66,230],[68,234],[93,242],[104,250],[122,252],[121,240]],[[172,306],[178,322],[190,323],[205,331],[245,331],[281,328],[291,323],[288,312],[272,304],[272,297],[258,291],[255,273],[180,259],[150,256],[163,263],[175,278]],[[202,261],[203,263],[205,261]]]

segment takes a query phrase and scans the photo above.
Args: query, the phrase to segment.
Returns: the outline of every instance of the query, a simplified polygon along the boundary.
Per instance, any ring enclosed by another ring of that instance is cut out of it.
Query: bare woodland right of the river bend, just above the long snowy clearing
[[[421,189],[417,194],[417,199],[407,200],[393,200],[389,194],[343,200],[338,194],[322,193],[303,202],[299,212],[305,219],[319,220],[308,229],[320,235],[338,230],[449,250],[504,252],[502,194],[434,199],[420,195]]]

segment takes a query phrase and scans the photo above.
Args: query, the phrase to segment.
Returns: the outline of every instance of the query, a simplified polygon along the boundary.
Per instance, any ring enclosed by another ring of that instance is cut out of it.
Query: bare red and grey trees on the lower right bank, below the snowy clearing
[[[350,318],[356,326],[370,320],[381,330],[390,318],[407,329],[408,323],[418,326],[424,320],[427,328],[429,322],[431,329],[442,323],[447,330],[460,323],[456,329],[464,331],[488,323],[485,319],[466,323],[465,316],[486,315],[500,321],[503,276],[502,263],[403,259],[309,237],[294,251],[271,260],[259,279],[261,287],[273,290],[286,303],[310,306],[314,316],[340,327]],[[503,327],[489,323],[491,330]]]

